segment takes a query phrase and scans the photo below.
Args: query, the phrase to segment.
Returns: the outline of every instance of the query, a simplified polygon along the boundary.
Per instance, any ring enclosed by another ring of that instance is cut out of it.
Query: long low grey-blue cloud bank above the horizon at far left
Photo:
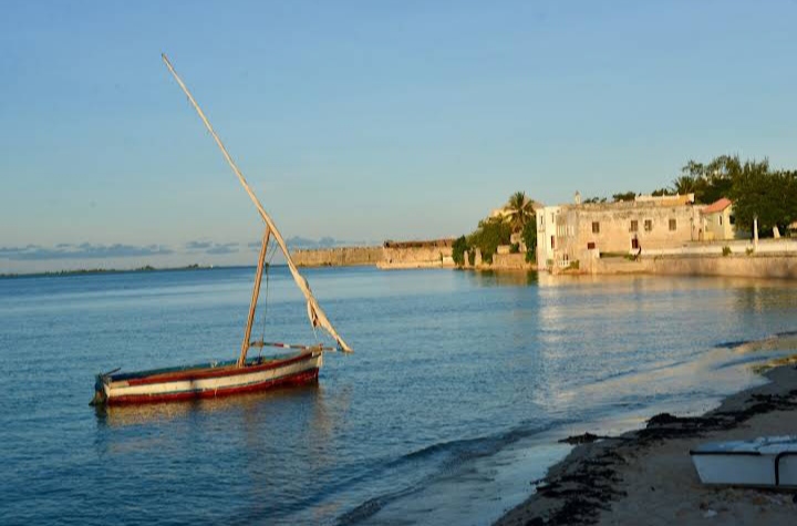
[[[62,243],[55,245],[54,247],[41,247],[38,245],[28,245],[25,247],[0,247],[0,258],[11,259],[13,261],[40,261],[48,259],[104,259],[136,256],[163,256],[168,254],[174,254],[174,250],[163,245],[92,245],[90,243],[83,243],[74,246]]]

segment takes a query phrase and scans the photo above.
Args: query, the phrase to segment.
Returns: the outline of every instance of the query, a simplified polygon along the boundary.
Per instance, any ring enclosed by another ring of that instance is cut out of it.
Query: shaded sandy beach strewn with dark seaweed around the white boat
[[[796,524],[797,491],[703,485],[689,454],[704,442],[797,434],[797,369],[765,375],[770,383],[703,416],[656,415],[645,429],[578,445],[496,524]]]

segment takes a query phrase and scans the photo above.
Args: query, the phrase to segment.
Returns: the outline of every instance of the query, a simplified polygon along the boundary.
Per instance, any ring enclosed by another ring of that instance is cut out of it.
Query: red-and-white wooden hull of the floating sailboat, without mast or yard
[[[211,399],[318,382],[321,351],[276,359],[234,362],[97,377],[93,403],[144,404]]]

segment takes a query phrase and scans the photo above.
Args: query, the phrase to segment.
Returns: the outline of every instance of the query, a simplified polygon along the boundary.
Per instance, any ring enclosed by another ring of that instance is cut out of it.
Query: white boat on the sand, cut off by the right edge
[[[690,451],[704,484],[797,486],[797,436],[714,442]]]

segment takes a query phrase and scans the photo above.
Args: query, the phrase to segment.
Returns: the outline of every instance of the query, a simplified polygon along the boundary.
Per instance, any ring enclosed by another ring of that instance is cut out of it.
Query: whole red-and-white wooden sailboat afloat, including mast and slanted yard
[[[310,290],[310,285],[299,274],[297,266],[288,250],[288,247],[273,224],[271,217],[266,213],[259,199],[255,196],[244,174],[230,157],[227,148],[221,143],[214,131],[210,122],[207,120],[201,109],[192,96],[190,92],[177,75],[166,55],[162,55],[163,61],[168,68],[172,75],[186,94],[192,105],[205,123],[208,132],[216,141],[221,149],[225,159],[232,168],[244,189],[258,209],[260,217],[266,224],[266,233],[263,234],[262,244],[260,246],[260,255],[258,257],[257,271],[255,275],[255,288],[249,305],[249,316],[247,318],[246,329],[244,331],[244,342],[241,343],[240,353],[237,360],[222,362],[201,363],[188,367],[176,367],[168,369],[154,369],[148,371],[118,373],[114,370],[107,373],[97,374],[94,385],[94,399],[92,404],[137,404],[149,402],[167,402],[176,400],[201,399],[226,396],[237,393],[246,393],[253,391],[262,391],[282,385],[306,384],[318,381],[319,369],[323,363],[323,352],[330,350],[340,350],[351,352],[351,348],[346,345],[343,339],[338,334],[327,314],[319,306],[315,297]],[[269,241],[273,237],[277,246],[282,251],[288,268],[299,289],[307,300],[308,317],[311,327],[320,327],[324,329],[337,342],[337,347],[324,347],[322,344],[313,345],[294,345],[279,342],[265,342],[262,340],[251,341],[252,323],[255,321],[255,312],[257,309],[258,298],[260,296],[260,282],[262,280],[263,268],[266,267],[266,255],[268,252]],[[247,353],[252,347],[277,347],[289,349],[291,352],[277,357],[257,357],[247,358]]]

